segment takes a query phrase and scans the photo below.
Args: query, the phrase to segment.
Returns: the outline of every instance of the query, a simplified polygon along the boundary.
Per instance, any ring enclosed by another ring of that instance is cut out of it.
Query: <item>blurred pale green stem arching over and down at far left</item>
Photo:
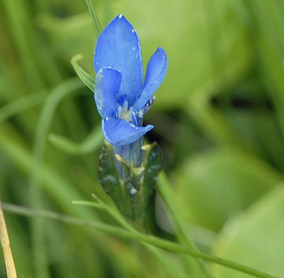
[[[47,101],[41,111],[38,128],[35,135],[33,165],[29,181],[30,203],[34,208],[42,207],[42,189],[39,186],[41,181],[41,167],[46,149],[46,138],[48,128],[51,125],[53,115],[58,103],[71,92],[82,86],[78,78],[73,78],[55,87],[54,91],[48,96]],[[36,265],[37,277],[51,277],[47,266],[47,250],[45,244],[45,224],[43,219],[31,221],[33,254]]]

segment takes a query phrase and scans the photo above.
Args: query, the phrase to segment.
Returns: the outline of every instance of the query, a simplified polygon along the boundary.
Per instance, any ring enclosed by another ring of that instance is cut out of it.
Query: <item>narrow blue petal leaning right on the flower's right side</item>
[[[147,65],[143,90],[137,101],[137,111],[144,107],[163,82],[166,76],[167,64],[166,52],[159,47]]]

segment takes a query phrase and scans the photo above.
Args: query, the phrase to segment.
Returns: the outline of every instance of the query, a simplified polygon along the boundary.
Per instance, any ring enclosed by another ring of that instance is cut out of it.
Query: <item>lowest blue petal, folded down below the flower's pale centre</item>
[[[104,138],[114,146],[131,144],[154,126],[134,126],[122,119],[102,120]]]

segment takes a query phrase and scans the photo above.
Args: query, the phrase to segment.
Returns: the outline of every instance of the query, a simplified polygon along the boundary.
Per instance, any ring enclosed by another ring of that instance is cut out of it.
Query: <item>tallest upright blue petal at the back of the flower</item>
[[[138,35],[124,16],[118,15],[99,35],[94,56],[95,73],[102,68],[122,75],[118,96],[126,95],[130,106],[142,90],[142,58]]]

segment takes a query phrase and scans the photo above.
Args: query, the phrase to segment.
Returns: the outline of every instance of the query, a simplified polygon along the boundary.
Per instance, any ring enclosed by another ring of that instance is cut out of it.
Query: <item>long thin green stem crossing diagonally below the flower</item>
[[[10,212],[17,213],[17,214],[24,215],[24,216],[44,217],[44,218],[57,220],[57,221],[61,221],[61,222],[76,225],[76,226],[93,228],[98,231],[105,232],[105,233],[108,233],[116,237],[137,240],[142,243],[148,243],[148,244],[154,245],[156,247],[160,247],[162,249],[165,249],[173,253],[184,253],[184,254],[188,254],[195,258],[200,258],[200,259],[204,259],[204,260],[207,260],[207,261],[219,264],[219,265],[223,265],[225,267],[235,269],[237,271],[252,275],[254,277],[277,278],[275,276],[265,274],[258,270],[252,269],[250,267],[247,267],[247,266],[244,266],[244,265],[241,265],[241,264],[238,264],[238,263],[226,260],[226,259],[222,259],[222,258],[219,258],[217,256],[214,256],[208,253],[203,253],[198,250],[193,250],[192,248],[189,248],[188,246],[182,246],[178,243],[174,243],[174,242],[171,242],[165,239],[157,238],[155,236],[142,234],[138,231],[129,231],[129,230],[125,230],[120,227],[115,227],[115,226],[104,224],[98,221],[88,221],[88,220],[83,220],[83,219],[79,219],[76,217],[71,217],[68,215],[58,214],[58,213],[47,211],[47,210],[31,209],[31,208],[13,205],[13,204],[3,203],[2,208],[6,211],[10,211]]]

